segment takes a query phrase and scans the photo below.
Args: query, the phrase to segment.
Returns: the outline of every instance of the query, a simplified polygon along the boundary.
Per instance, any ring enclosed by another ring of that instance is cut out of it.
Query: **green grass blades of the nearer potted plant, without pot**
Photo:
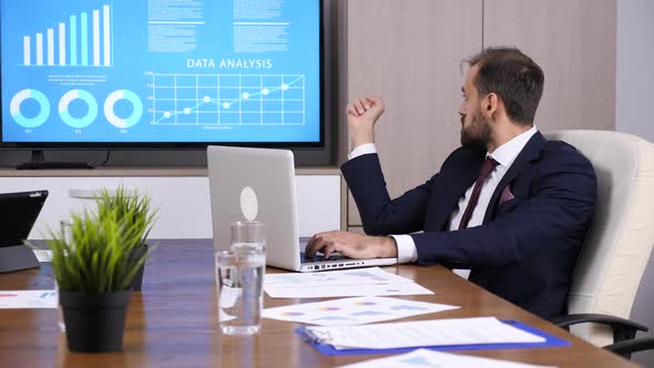
[[[52,251],[52,269],[60,290],[113,293],[130,288],[152,251],[151,247],[141,256],[133,256],[152,217],[133,223],[124,219],[127,217],[119,217],[117,211],[105,211],[102,216],[88,212],[72,214],[68,241],[50,231],[45,243]]]

